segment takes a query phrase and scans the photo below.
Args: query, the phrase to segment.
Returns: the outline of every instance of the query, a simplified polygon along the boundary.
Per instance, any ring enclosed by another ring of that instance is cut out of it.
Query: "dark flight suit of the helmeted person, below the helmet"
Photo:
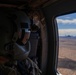
[[[30,58],[0,65],[0,75],[41,75],[41,70]]]

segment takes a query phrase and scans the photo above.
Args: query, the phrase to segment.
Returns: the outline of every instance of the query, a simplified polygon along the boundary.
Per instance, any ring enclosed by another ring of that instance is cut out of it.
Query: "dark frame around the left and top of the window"
[[[60,0],[46,7],[42,7],[42,12],[45,16],[48,34],[48,58],[45,75],[57,75],[59,34],[57,22],[55,19],[57,16],[76,12],[76,1]]]

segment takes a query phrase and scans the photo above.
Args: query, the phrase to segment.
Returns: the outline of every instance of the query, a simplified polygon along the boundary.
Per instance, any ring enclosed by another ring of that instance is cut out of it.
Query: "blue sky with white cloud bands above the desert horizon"
[[[76,36],[76,13],[59,16],[56,20],[59,36]]]

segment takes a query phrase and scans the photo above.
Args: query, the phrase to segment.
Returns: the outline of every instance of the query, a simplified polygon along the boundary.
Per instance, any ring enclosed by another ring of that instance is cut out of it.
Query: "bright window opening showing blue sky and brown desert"
[[[76,13],[56,17],[59,32],[57,70],[62,75],[76,75]]]

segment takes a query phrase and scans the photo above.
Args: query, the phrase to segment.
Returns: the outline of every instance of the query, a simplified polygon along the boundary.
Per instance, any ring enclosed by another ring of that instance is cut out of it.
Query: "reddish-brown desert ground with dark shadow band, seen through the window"
[[[58,71],[62,75],[76,75],[76,38],[59,38]]]

